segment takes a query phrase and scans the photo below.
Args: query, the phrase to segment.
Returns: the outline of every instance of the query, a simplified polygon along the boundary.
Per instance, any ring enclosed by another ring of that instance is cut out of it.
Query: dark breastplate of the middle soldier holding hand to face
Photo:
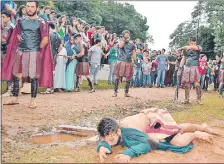
[[[118,60],[120,61],[131,61],[133,51],[133,43],[126,43],[123,48],[120,48],[118,54]]]

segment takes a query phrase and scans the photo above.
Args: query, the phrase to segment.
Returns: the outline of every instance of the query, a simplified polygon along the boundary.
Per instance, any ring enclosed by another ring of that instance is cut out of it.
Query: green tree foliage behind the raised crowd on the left
[[[22,5],[24,1],[16,1]],[[121,34],[123,30],[131,32],[132,39],[139,38],[143,42],[153,42],[149,35],[147,18],[139,14],[129,3],[116,1],[40,1],[40,5],[48,5],[55,11],[81,18],[93,25],[105,26],[111,33]]]

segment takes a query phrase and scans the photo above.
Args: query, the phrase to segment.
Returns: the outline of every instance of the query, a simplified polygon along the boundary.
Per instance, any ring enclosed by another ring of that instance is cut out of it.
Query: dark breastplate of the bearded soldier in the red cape
[[[40,20],[22,19],[21,26],[21,41],[19,49],[21,51],[39,51],[41,42]]]

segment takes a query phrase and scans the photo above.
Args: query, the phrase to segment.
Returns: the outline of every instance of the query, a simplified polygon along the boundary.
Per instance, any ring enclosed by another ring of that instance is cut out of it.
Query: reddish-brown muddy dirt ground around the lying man
[[[29,109],[30,95],[22,95],[20,104],[2,108],[2,160],[3,162],[99,162],[94,145],[82,141],[59,144],[35,145],[29,138],[39,132],[50,132],[62,124],[96,127],[102,117],[122,119],[134,115],[148,107],[166,107],[171,113],[177,110],[191,110],[195,105],[196,94],[191,91],[191,105],[172,103],[175,88],[135,88],[131,89],[131,98],[124,98],[123,90],[113,98],[112,90],[88,93],[54,93],[38,95],[36,109]],[[203,96],[207,96],[205,93]],[[180,89],[179,100],[184,100],[184,90]],[[9,97],[2,99],[3,103]],[[209,123],[224,135],[224,121]],[[197,141],[195,148],[185,154],[154,151],[131,162],[223,162],[224,138],[215,137],[214,145]],[[219,148],[217,147],[219,146]],[[114,149],[115,154],[123,150]],[[110,155],[106,162],[113,162]]]

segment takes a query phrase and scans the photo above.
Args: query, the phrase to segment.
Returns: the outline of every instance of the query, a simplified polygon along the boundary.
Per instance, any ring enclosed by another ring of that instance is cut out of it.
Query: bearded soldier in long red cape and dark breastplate
[[[4,105],[16,105],[19,81],[31,79],[30,108],[36,108],[39,86],[53,86],[49,25],[37,16],[37,1],[27,1],[27,17],[21,18],[12,33],[2,67],[2,80],[13,81],[13,98]]]

